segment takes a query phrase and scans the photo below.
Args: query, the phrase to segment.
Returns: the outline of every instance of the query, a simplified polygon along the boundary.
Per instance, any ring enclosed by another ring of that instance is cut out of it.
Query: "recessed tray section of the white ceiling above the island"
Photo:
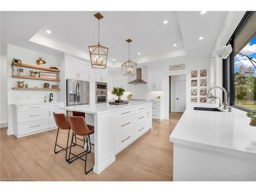
[[[53,18],[38,32],[75,48],[88,51],[89,45],[98,42],[96,12],[67,12]],[[101,12],[100,43],[109,48],[109,59],[128,58],[131,38],[131,58],[183,48],[176,12]],[[163,24],[168,20],[167,24]],[[47,34],[46,30],[51,30]],[[177,44],[176,47],[173,44]]]

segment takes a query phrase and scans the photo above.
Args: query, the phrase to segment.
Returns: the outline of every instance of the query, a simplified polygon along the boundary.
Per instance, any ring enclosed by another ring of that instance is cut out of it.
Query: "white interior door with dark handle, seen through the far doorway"
[[[186,109],[186,81],[175,81],[175,111],[184,112]]]

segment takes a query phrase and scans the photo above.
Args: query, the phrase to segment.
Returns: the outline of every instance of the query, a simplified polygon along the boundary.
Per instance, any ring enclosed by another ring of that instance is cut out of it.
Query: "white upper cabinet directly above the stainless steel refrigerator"
[[[84,63],[66,59],[66,79],[88,80],[88,68]]]

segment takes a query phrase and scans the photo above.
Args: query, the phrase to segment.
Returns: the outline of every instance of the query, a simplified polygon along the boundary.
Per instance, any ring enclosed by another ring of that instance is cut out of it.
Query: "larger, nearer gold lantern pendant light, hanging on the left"
[[[100,13],[94,15],[98,19],[98,45],[89,46],[92,68],[105,69],[108,60],[109,48],[101,46],[99,42],[99,20],[103,18]]]

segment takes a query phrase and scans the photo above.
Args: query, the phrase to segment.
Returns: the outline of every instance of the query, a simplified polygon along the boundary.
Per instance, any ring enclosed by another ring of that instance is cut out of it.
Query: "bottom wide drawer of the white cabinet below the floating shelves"
[[[18,135],[23,135],[27,133],[33,133],[40,130],[48,129],[48,120],[39,120],[27,123],[18,124]]]

